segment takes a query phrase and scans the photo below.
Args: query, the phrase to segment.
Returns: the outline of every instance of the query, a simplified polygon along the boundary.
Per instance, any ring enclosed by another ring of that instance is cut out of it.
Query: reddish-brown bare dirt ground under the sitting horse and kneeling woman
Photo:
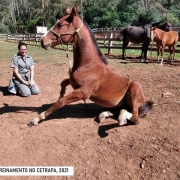
[[[98,123],[105,110],[87,101],[65,106],[47,121],[27,123],[58,99],[66,63],[35,64],[40,94],[7,93],[9,63],[1,62],[0,166],[73,166],[74,176],[0,177],[3,180],[179,180],[180,61],[163,66],[109,56],[113,71],[139,81],[154,108],[139,125],[117,127],[117,117]],[[47,68],[48,66],[48,68]],[[67,88],[67,93],[71,92]]]

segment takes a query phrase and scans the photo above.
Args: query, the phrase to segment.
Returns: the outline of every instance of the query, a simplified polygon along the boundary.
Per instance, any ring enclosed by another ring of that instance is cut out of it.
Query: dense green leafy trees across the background
[[[0,0],[0,33],[50,28],[67,7],[78,6],[91,28],[143,25],[168,20],[180,25],[179,0]]]

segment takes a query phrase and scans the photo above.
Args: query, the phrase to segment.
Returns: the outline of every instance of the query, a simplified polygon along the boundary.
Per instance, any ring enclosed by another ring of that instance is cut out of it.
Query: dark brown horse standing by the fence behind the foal
[[[153,24],[147,24],[142,27],[140,26],[128,26],[120,30],[118,40],[123,41],[122,45],[122,59],[125,59],[125,50],[130,43],[140,44],[142,43],[141,56],[143,60],[147,60],[147,51],[151,41],[151,30],[150,27],[156,26],[164,31],[171,30],[171,24],[169,22],[158,22]]]

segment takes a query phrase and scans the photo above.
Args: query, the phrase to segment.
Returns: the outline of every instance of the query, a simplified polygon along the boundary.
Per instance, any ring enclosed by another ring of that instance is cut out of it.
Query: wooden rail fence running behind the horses
[[[173,30],[180,32],[180,27],[173,27]],[[100,49],[106,49],[108,54],[112,53],[113,49],[122,49],[122,42],[117,41],[117,35],[119,33],[120,27],[118,28],[100,28],[93,29],[95,38],[98,42]],[[6,41],[8,42],[18,42],[23,41],[28,45],[40,46],[40,38],[42,34],[11,34],[6,35]],[[4,35],[3,35],[4,37]],[[0,35],[1,38],[1,35]],[[180,38],[179,38],[180,41]],[[128,49],[141,49],[141,44],[132,44]],[[61,47],[57,47],[61,49]],[[149,46],[149,50],[156,51],[155,43]],[[168,51],[168,49],[165,49]],[[176,53],[180,53],[180,43],[178,43],[176,48]]]

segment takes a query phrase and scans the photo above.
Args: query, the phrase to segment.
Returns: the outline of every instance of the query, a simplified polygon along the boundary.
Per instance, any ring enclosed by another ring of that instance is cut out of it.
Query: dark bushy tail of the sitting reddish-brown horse
[[[144,104],[142,104],[138,109],[139,117],[147,116],[152,110],[152,107],[153,107],[152,101],[146,101]]]

